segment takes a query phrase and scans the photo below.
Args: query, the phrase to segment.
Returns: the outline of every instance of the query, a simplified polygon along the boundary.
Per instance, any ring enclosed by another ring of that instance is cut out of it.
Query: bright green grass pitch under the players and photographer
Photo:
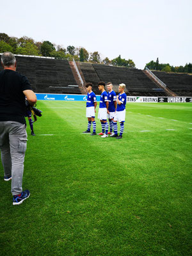
[[[38,102],[23,204],[0,167],[0,254],[190,255],[192,104],[127,104],[122,140],[82,134],[84,106]]]

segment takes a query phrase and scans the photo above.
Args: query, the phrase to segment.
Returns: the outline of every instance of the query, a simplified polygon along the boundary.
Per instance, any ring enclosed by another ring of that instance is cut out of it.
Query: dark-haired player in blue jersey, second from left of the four
[[[107,119],[108,107],[109,107],[108,93],[105,90],[106,84],[104,82],[99,82],[97,85],[101,92],[98,118],[100,120],[100,124],[102,127],[102,132],[98,133],[98,135],[102,135],[101,138],[106,138],[108,137],[108,129],[109,129],[108,119]]]

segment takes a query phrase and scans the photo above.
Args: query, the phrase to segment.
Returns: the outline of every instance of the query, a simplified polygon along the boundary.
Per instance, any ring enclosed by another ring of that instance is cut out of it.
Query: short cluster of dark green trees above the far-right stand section
[[[192,63],[186,63],[186,65],[173,67],[169,63],[159,63],[159,58],[156,61],[150,61],[146,64],[146,67],[150,70],[164,71],[164,72],[177,72],[177,73],[192,73]]]

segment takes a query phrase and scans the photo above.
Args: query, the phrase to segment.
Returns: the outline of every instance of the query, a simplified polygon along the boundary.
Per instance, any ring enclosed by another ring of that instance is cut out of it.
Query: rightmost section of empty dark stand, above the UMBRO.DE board
[[[192,76],[188,74],[152,71],[168,88],[179,96],[192,96]]]

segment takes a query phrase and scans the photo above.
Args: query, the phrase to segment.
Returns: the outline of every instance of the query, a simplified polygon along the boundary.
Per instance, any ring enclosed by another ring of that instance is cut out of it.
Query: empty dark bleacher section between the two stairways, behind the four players
[[[118,93],[118,84],[125,83],[127,95],[167,96],[164,90],[152,82],[142,70],[109,65],[79,63],[86,82],[93,84],[93,92],[100,94],[97,83],[113,83],[113,90]]]

